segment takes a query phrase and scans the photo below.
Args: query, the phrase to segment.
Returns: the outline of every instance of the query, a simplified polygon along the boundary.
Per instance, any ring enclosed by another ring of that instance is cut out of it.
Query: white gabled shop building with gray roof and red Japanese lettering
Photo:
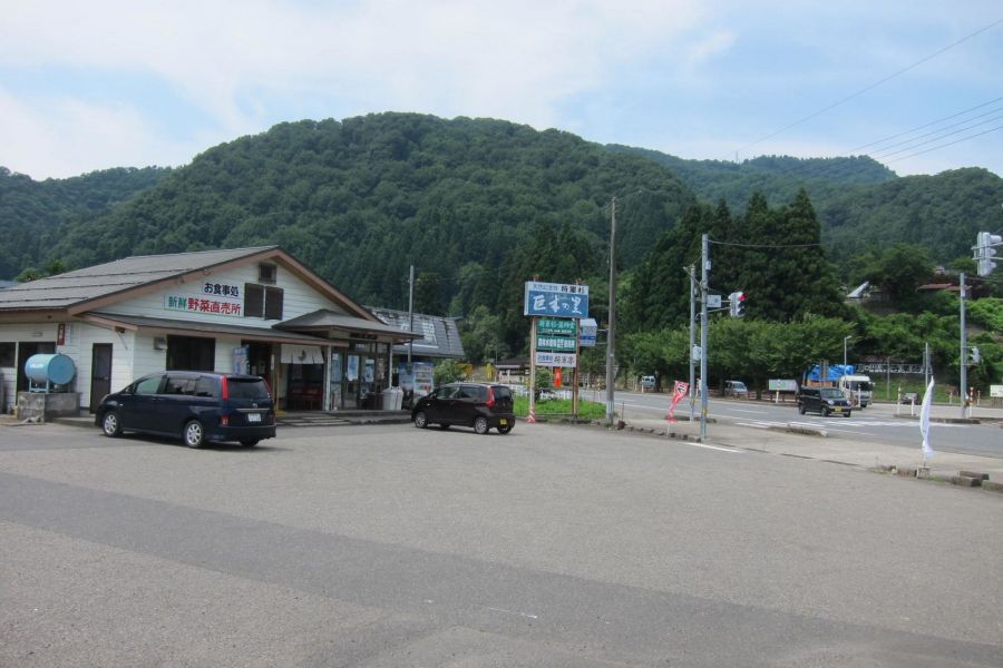
[[[0,289],[0,409],[39,353],[74,361],[85,410],[182,369],[263,376],[280,410],[378,409],[391,348],[413,337],[279,246],[127,257]]]

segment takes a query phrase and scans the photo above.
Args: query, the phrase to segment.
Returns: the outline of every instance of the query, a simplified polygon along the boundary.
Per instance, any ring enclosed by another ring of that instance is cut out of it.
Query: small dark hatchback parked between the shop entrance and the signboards
[[[489,429],[507,434],[515,425],[512,406],[512,390],[505,385],[449,383],[419,399],[411,410],[411,421],[419,429],[459,424],[473,426],[478,434],[486,434]]]

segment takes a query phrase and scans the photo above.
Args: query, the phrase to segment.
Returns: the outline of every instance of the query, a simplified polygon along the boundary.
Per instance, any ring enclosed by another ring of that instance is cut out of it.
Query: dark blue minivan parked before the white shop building
[[[181,436],[188,448],[238,441],[251,448],[275,436],[275,411],[259,376],[163,371],[107,395],[95,412],[105,435],[126,431]]]

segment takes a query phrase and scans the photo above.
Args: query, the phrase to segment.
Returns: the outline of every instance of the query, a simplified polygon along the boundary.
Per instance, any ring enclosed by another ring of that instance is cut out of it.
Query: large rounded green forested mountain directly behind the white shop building
[[[602,275],[617,195],[625,265],[695,202],[668,169],[567,132],[413,114],[301,121],[205,151],[127,206],[61,229],[49,257],[86,266],[277,243],[360,302],[391,307],[407,303],[415,264],[423,306],[451,311],[459,295],[459,315],[494,307],[526,272]]]

